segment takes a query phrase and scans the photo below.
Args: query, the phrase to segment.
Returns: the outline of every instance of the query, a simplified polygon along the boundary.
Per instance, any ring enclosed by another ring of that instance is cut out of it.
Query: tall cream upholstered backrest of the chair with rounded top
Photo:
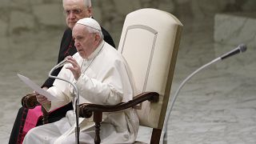
[[[182,33],[174,15],[151,8],[126,15],[118,51],[134,75],[139,92],[160,94],[159,102],[143,102],[141,126],[162,129]]]

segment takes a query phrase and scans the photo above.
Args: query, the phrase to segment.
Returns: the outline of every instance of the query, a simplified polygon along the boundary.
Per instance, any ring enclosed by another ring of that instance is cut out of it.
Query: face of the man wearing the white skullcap
[[[98,46],[98,35],[89,33],[86,26],[77,24],[72,30],[74,46],[82,58],[88,58]]]

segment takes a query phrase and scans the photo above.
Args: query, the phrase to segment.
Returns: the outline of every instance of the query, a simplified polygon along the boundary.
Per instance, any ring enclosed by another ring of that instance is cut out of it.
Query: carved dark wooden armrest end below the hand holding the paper
[[[35,94],[26,94],[22,98],[22,106],[27,109],[34,109],[35,106],[39,106],[40,103],[37,101]]]

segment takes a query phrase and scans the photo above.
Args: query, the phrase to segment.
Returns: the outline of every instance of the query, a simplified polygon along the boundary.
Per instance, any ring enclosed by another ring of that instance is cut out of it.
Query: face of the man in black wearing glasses
[[[91,7],[86,7],[83,0],[64,0],[63,8],[66,14],[66,25],[70,29],[73,29],[79,19],[91,16]]]

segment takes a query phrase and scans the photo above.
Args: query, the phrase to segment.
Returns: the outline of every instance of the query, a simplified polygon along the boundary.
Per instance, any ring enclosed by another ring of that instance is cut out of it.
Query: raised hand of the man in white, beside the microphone
[[[78,62],[71,56],[67,56],[66,59],[66,62],[70,62],[72,64],[72,66],[67,66],[66,69],[71,70],[72,74],[74,75],[74,79],[78,80],[82,74],[81,67],[78,65]]]

